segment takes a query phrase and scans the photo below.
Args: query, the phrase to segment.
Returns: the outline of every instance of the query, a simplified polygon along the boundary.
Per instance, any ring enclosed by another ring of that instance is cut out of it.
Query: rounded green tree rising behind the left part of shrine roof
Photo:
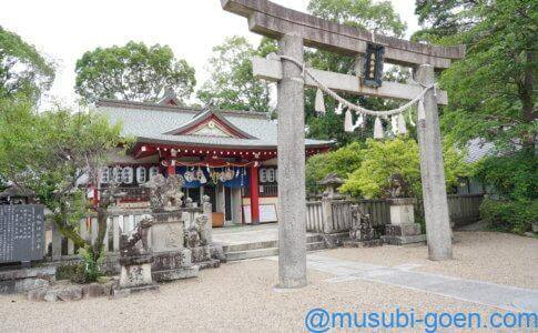
[[[196,84],[194,68],[176,59],[170,47],[134,41],[85,52],[75,72],[74,89],[87,102],[156,101],[171,89],[185,103]]]

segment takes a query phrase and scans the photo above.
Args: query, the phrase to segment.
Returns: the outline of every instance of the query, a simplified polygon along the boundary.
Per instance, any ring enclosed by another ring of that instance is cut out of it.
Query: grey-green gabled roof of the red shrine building
[[[202,110],[179,105],[102,100],[97,111],[111,123],[122,124],[122,134],[138,142],[244,149],[276,149],[276,123],[266,113],[252,111]],[[234,135],[196,135],[192,125],[213,119]],[[328,148],[334,141],[305,140],[306,148]]]

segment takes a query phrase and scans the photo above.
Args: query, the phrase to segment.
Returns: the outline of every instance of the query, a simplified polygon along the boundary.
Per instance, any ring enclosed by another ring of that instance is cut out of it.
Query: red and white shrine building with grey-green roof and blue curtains
[[[122,204],[146,208],[152,176],[179,174],[184,199],[213,204],[214,226],[277,221],[277,127],[267,113],[180,107],[169,95],[158,103],[102,100],[97,111],[122,124],[133,138],[126,155],[113,155],[100,186],[114,180]],[[333,141],[305,141],[306,157],[326,152]]]

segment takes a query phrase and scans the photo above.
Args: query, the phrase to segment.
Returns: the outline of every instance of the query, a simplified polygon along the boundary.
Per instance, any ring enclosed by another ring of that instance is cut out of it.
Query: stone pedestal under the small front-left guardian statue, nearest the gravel
[[[120,284],[112,292],[114,297],[159,290],[159,285],[153,282],[151,274],[152,254],[120,258],[119,261],[121,264]]]

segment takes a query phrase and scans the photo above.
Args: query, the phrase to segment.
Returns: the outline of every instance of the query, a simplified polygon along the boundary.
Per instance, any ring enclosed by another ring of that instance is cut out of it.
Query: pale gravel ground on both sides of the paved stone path
[[[324,251],[324,255],[383,265],[413,262],[424,264],[419,270],[536,289],[537,240],[497,233],[458,233],[457,238],[461,241],[455,245],[456,260],[445,263],[424,260],[425,246],[337,249]],[[304,316],[313,307],[363,312],[399,306],[414,309],[417,316],[427,311],[497,311],[361,280],[326,283],[327,278],[332,275],[309,271],[307,287],[275,292],[277,263],[252,260],[161,285],[159,293],[120,300],[40,303],[18,295],[0,296],[0,331],[301,332]]]

